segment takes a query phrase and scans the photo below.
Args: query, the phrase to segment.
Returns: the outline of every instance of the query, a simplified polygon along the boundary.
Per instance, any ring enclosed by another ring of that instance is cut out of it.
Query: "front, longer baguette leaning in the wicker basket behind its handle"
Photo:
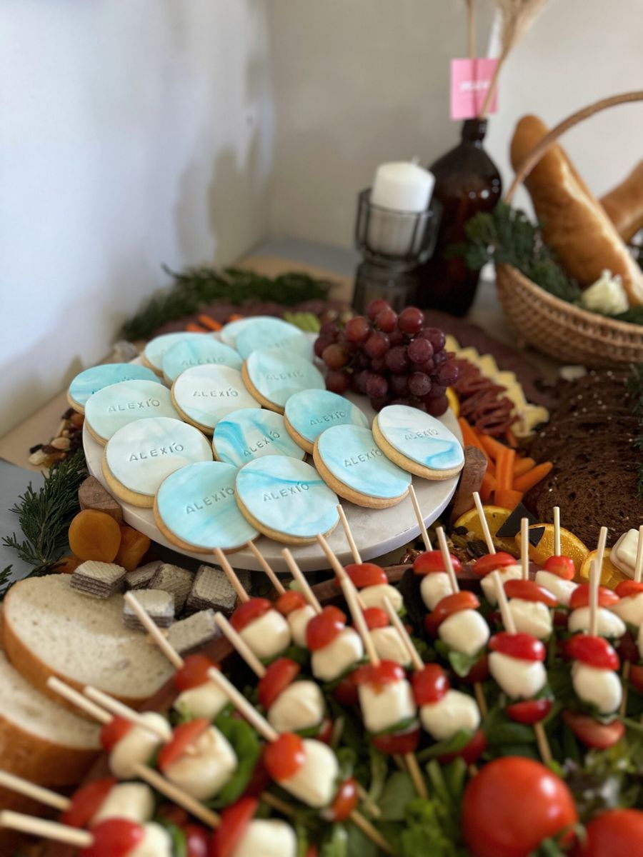
[[[546,133],[538,117],[520,119],[511,142],[514,170]],[[545,242],[581,288],[592,285],[609,269],[620,274],[629,303],[643,303],[643,271],[560,146],[550,147],[525,184],[543,221]]]

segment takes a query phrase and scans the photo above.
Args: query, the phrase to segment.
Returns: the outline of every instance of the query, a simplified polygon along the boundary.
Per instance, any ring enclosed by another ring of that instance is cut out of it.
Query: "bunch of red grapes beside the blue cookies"
[[[412,405],[440,417],[448,408],[447,387],[458,380],[455,355],[445,351],[445,342],[437,327],[424,327],[421,309],[406,307],[398,315],[376,298],[366,315],[343,328],[336,321],[323,325],[315,354],[328,366],[326,387],[333,393],[363,393],[376,411]]]

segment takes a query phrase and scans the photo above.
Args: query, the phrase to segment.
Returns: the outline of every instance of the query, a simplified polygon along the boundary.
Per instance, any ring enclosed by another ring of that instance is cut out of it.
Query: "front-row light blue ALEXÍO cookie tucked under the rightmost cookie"
[[[388,460],[370,428],[327,428],[315,440],[313,458],[324,482],[357,506],[385,509],[408,494],[411,476]]]

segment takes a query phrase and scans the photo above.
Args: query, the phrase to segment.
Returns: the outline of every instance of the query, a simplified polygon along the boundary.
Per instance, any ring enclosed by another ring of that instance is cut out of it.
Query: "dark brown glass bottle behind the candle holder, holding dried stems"
[[[475,213],[496,206],[502,195],[498,168],[484,151],[485,119],[467,119],[462,140],[429,169],[436,177],[434,196],[442,202],[442,222],[432,258],[419,271],[418,304],[466,315],[478,288],[478,271],[461,259],[445,258],[450,244],[466,241],[464,225]]]

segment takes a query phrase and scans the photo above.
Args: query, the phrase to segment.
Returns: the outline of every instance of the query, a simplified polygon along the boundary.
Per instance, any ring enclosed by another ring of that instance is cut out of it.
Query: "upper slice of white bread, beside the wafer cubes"
[[[51,574],[14,584],[4,599],[3,648],[9,661],[40,692],[51,675],[81,689],[86,684],[141,708],[173,673],[147,635],[123,625],[123,596],[99,599]]]

